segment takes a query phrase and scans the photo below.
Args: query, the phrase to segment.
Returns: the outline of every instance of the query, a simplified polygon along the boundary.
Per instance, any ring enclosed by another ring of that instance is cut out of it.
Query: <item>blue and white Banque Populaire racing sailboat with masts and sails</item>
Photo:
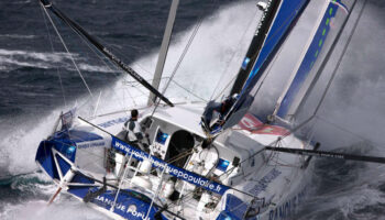
[[[177,2],[172,6],[168,37]],[[285,219],[304,198],[304,176],[311,156],[384,163],[382,157],[320,152],[318,143],[296,132],[305,124],[296,122],[296,113],[322,73],[355,1],[322,1],[276,109],[268,117],[253,110],[266,69],[308,3],[258,3],[263,15],[228,94],[233,101],[221,120],[211,124],[207,112],[215,108],[204,102],[173,103],[157,90],[158,81],[150,85],[52,2],[41,0],[48,16],[58,16],[147,88],[154,103],[135,107],[147,134],[148,148],[144,150],[125,139],[122,127],[130,119],[125,110],[87,118],[77,116],[75,109],[62,113],[35,157],[58,186],[50,202],[65,191],[113,219]],[[157,74],[162,73],[168,42],[163,41]]]

